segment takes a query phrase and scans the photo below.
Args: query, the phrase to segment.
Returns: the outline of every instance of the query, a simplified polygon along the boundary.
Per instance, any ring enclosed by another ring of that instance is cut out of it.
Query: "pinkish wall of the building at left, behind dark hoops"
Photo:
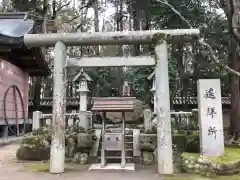
[[[0,121],[4,120],[4,94],[11,85],[18,86],[24,103],[24,111],[28,114],[28,85],[29,75],[11,63],[0,59]],[[24,118],[20,97],[16,92],[17,117]],[[6,112],[9,120],[16,119],[16,108],[13,96],[13,89],[8,92],[6,98]],[[2,122],[0,122],[2,124]],[[5,124],[5,123],[4,123]]]

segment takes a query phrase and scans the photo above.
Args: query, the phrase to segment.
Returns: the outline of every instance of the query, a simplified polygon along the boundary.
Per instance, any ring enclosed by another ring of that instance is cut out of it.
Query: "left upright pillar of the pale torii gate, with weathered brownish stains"
[[[65,161],[65,113],[67,47],[60,41],[54,49],[53,112],[50,173],[63,173]]]

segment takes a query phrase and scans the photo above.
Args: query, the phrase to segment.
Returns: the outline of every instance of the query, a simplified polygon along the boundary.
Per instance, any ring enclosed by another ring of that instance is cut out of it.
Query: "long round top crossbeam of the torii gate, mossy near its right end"
[[[170,29],[153,31],[117,31],[94,33],[49,33],[27,34],[24,44],[29,47],[54,46],[61,41],[66,46],[91,46],[91,45],[123,45],[123,44],[151,44],[154,35],[165,34],[171,39],[189,41],[198,36],[199,29]]]

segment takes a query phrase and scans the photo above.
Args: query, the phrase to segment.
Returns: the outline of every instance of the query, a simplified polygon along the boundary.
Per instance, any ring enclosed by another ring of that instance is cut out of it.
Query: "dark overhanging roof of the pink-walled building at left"
[[[25,12],[0,12],[0,56],[29,72],[30,76],[48,76],[50,69],[42,48],[28,48],[24,36],[35,34],[37,23]]]

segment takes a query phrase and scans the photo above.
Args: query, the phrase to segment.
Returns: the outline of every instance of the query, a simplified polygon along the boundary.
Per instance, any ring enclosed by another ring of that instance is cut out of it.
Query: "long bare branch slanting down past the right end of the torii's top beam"
[[[156,0],[157,2],[161,3],[161,4],[164,4],[166,6],[168,6],[175,14],[177,14],[179,16],[179,18],[184,21],[188,26],[189,28],[193,28],[193,26],[191,25],[191,23],[178,11],[176,10],[171,4],[168,3],[167,0]],[[233,75],[236,75],[238,77],[240,77],[240,73],[233,70],[232,68],[230,68],[229,66],[223,64],[220,62],[220,60],[216,57],[215,53],[214,53],[214,50],[213,48],[211,47],[211,45],[209,45],[208,43],[206,43],[204,41],[203,38],[200,38],[198,39],[198,43],[207,48],[207,50],[209,51],[209,54],[211,56],[211,58],[213,59],[213,61],[220,67],[224,68],[226,71],[228,71],[229,73],[233,74]]]

